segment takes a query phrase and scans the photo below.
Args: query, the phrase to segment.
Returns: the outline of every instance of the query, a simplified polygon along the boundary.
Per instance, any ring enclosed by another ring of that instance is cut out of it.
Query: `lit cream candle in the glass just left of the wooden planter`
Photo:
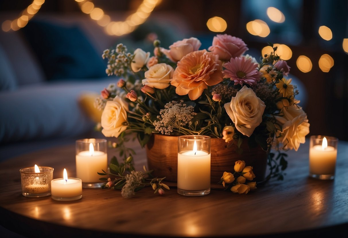
[[[108,155],[103,151],[95,150],[93,143],[88,143],[88,145],[88,151],[76,152],[76,177],[81,179],[84,184],[101,183],[101,176],[97,172],[107,171]]]

